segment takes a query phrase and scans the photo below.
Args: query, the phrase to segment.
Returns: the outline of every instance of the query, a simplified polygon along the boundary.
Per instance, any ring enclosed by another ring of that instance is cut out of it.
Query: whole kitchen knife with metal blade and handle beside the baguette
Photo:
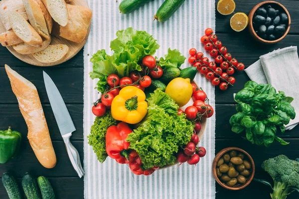
[[[71,163],[78,173],[78,176],[81,178],[84,175],[84,170],[81,166],[80,157],[78,151],[70,142],[70,137],[72,132],[76,130],[73,120],[68,112],[66,105],[55,86],[52,79],[43,71],[44,83],[46,86],[47,95],[56,119],[56,122],[59,127],[59,131],[62,135],[67,154],[71,160]]]

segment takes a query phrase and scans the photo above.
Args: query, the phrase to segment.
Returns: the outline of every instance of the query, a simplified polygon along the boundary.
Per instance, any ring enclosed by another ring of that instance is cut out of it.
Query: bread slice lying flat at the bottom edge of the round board
[[[55,64],[65,59],[69,53],[69,47],[64,44],[49,45],[46,49],[32,55],[42,63]]]

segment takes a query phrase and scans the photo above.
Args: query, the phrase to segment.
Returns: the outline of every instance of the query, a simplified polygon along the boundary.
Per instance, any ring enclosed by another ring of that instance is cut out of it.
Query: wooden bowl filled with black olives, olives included
[[[291,27],[290,13],[281,3],[267,0],[254,6],[249,15],[249,31],[262,43],[274,44],[288,34]]]

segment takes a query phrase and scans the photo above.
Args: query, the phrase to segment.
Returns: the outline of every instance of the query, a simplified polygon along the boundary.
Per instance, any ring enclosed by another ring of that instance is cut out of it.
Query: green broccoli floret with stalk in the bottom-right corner
[[[286,199],[289,194],[299,189],[299,162],[290,160],[285,155],[270,158],[262,163],[262,168],[273,178],[272,199]]]

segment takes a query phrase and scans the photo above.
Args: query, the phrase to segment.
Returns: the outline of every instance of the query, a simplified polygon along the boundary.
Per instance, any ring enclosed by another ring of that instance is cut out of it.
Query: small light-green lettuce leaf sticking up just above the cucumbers
[[[185,62],[185,59],[186,57],[181,55],[177,49],[171,50],[168,48],[168,54],[165,55],[165,58],[160,58],[159,64],[162,68],[179,68]]]

